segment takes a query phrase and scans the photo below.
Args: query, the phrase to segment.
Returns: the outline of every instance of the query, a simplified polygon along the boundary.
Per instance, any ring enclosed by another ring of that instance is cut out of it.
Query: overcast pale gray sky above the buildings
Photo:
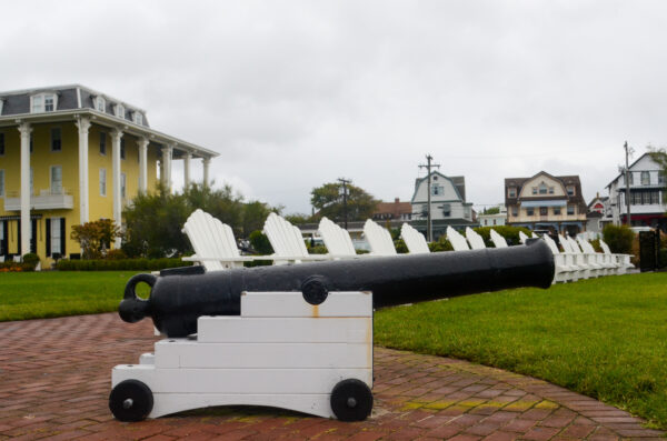
[[[0,90],[81,83],[216,150],[217,184],[310,212],[348,178],[409,200],[425,154],[468,201],[667,144],[664,1],[3,1]],[[175,161],[175,186],[182,163]],[[193,176],[201,179],[196,161]]]

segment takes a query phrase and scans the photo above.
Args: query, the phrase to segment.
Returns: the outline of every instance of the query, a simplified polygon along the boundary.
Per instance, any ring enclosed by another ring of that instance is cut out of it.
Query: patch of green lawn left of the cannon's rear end
[[[136,273],[136,271],[0,273],[0,321],[117,311],[125,285]],[[138,290],[142,285],[140,284]]]

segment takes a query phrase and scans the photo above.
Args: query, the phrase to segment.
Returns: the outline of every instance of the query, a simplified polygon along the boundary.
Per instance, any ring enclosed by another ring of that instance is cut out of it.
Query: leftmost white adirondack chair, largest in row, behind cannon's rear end
[[[207,271],[242,267],[243,262],[253,260],[251,257],[241,255],[231,227],[206,211],[195,210],[188,217],[182,231],[195,249],[195,255],[182,260],[200,262]]]

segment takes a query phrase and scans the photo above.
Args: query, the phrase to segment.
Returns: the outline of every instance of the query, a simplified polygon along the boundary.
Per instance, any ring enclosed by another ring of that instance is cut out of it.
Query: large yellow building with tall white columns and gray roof
[[[113,219],[121,227],[122,208],[139,192],[158,179],[171,188],[172,160],[183,160],[187,186],[191,160],[202,160],[208,182],[217,156],[79,84],[0,92],[0,259],[76,258],[72,225]]]

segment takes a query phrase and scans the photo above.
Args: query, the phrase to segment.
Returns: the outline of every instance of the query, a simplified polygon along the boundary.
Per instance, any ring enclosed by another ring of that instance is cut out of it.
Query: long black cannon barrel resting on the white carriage
[[[201,315],[239,315],[245,291],[301,291],[312,304],[331,291],[371,291],[374,307],[381,308],[508,288],[548,288],[552,280],[551,251],[544,241],[531,240],[500,249],[138,274],[126,287],[119,313],[128,322],[151,317],[167,335],[186,337],[197,332]],[[135,291],[140,282],[151,287],[146,300]]]

